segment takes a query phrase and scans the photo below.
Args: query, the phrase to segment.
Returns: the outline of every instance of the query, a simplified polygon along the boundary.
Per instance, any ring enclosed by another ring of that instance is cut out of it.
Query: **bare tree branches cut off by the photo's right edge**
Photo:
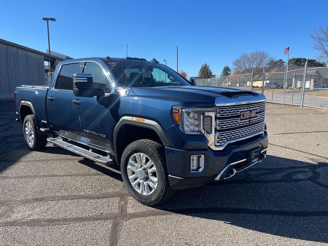
[[[314,41],[313,49],[320,52],[318,58],[328,62],[328,26],[314,29],[310,37]]]

